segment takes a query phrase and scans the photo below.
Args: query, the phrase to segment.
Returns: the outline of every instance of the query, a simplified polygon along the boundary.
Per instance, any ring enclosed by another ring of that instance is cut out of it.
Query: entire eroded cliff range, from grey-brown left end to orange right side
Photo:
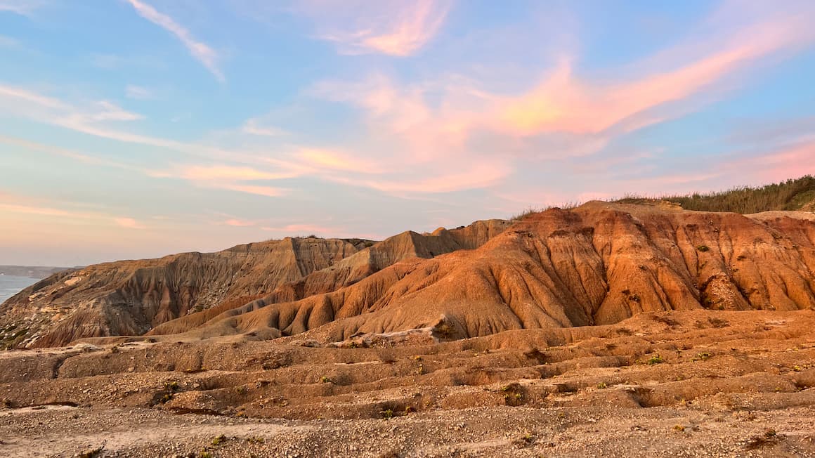
[[[454,339],[613,324],[663,310],[815,307],[815,214],[808,212],[589,202],[513,223],[404,232],[368,247],[299,243],[55,275],[7,302],[3,322],[51,317],[37,346],[144,332],[341,341],[434,328]],[[258,254],[264,250],[274,255]],[[215,261],[221,257],[231,262]],[[206,280],[213,278],[221,280]],[[209,308],[188,313],[201,303]]]

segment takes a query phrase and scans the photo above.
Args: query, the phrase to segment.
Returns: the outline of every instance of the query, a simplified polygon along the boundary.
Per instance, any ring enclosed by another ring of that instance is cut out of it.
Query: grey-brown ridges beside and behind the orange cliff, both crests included
[[[175,319],[189,328],[258,297],[295,301],[406,258],[474,249],[508,226],[489,220],[433,234],[407,231],[380,243],[287,238],[89,266],[52,275],[5,302],[0,338],[7,347],[60,346],[82,337],[163,333],[161,324]]]

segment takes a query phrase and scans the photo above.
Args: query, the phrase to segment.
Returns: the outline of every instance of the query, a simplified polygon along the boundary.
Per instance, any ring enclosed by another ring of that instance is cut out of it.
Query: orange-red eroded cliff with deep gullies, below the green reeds
[[[590,202],[532,215],[478,249],[406,259],[332,292],[271,295],[165,330],[340,341],[436,327],[457,338],[662,310],[799,310],[815,307],[813,272],[813,214]]]

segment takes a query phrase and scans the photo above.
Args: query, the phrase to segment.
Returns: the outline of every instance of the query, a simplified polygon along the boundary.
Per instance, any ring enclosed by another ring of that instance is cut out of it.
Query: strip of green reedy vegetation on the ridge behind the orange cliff
[[[681,205],[683,209],[706,212],[755,214],[773,210],[815,211],[815,177],[806,175],[762,187],[736,187],[723,192],[661,196],[657,199],[674,202]],[[644,200],[653,199],[626,196],[618,202],[639,204]]]

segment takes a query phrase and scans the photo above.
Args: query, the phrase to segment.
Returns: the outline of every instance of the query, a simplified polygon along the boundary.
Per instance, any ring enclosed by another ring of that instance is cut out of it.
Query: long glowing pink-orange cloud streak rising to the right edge
[[[635,115],[687,99],[757,59],[813,40],[811,27],[800,21],[758,24],[728,37],[718,49],[700,50],[701,55],[673,70],[652,71],[634,81],[615,83],[581,80],[573,74],[571,64],[563,61],[534,90],[504,98],[498,104],[500,114],[495,125],[518,135],[553,131],[596,134],[622,122],[628,123],[623,130],[637,130],[662,118]]]

